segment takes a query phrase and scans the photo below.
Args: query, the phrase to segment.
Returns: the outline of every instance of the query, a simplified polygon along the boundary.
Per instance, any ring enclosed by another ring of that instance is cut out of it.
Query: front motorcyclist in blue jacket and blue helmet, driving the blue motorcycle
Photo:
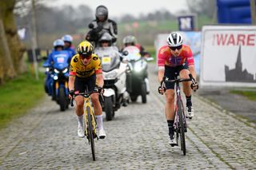
[[[54,41],[54,49],[51,51],[47,60],[43,63],[43,67],[50,68],[48,72],[46,72],[46,79],[45,79],[45,89],[48,95],[52,95],[52,99],[55,99],[54,87],[53,84],[53,77],[51,77],[51,71],[54,63],[62,64],[63,61],[67,61],[68,65],[70,65],[70,61],[72,56],[70,52],[63,50],[64,49],[64,42],[62,39],[57,39]]]

